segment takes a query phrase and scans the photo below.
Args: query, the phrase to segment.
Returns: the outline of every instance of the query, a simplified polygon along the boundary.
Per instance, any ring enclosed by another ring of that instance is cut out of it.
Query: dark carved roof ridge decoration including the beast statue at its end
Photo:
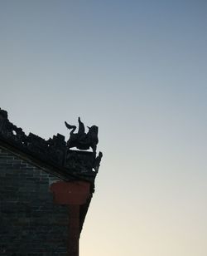
[[[76,126],[70,126],[66,122],[65,126],[71,130],[67,143],[65,136],[60,134],[54,135],[52,139],[44,140],[32,133],[26,135],[22,128],[14,126],[8,120],[7,111],[0,108],[0,145],[1,142],[12,145],[24,154],[64,170],[65,174],[95,177],[102,158],[101,152],[96,156],[99,142],[98,127],[88,127],[89,131],[85,133],[84,124],[80,118],[77,133],[75,133]],[[78,150],[70,150],[73,147]],[[89,151],[90,147],[93,152]]]

